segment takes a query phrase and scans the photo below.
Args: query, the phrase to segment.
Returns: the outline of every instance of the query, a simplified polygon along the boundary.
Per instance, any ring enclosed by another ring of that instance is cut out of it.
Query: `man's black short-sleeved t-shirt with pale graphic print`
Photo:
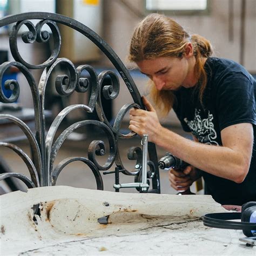
[[[200,143],[221,146],[220,131],[239,124],[253,124],[256,136],[256,81],[245,68],[228,59],[208,58],[205,63],[207,85],[203,105],[196,87],[174,92],[176,112],[184,131],[192,132]],[[203,171],[206,193],[220,204],[242,205],[256,201],[256,143],[245,180],[234,181]]]

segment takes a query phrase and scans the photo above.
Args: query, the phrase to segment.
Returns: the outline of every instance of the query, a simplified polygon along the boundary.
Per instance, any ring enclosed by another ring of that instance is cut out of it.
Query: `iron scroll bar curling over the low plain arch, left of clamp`
[[[89,160],[93,161],[93,164],[95,164],[97,166],[97,168],[99,170],[108,170],[110,169],[110,167],[113,165],[114,163],[114,158],[116,156],[116,140],[114,139],[113,133],[110,130],[109,126],[107,126],[106,124],[99,122],[97,120],[83,120],[80,122],[77,122],[75,124],[70,125],[66,130],[64,130],[62,132],[62,134],[60,134],[60,136],[56,139],[56,142],[53,144],[52,148],[51,148],[51,155],[50,155],[50,170],[52,170],[52,166],[53,166],[53,162],[56,158],[57,152],[60,148],[60,146],[63,144],[64,140],[69,136],[69,134],[73,131],[75,131],[76,129],[78,129],[79,127],[83,127],[85,125],[96,125],[98,127],[100,127],[106,134],[107,139],[109,140],[109,157],[107,158],[106,163],[102,166],[100,165],[97,160],[95,159],[95,157],[91,157],[92,154],[96,154],[96,152],[90,152],[88,150],[88,157]],[[93,148],[95,149],[95,148]],[[90,159],[91,158],[91,159]],[[51,173],[51,172],[50,172]]]

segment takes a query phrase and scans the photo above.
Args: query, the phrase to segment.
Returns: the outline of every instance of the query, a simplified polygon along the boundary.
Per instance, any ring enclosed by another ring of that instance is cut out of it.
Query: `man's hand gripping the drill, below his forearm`
[[[169,180],[174,190],[186,191],[192,183],[201,177],[201,171],[193,166],[187,166],[183,171],[170,169]]]

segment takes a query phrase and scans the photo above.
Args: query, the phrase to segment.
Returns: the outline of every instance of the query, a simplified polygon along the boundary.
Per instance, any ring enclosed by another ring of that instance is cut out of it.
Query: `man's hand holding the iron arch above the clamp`
[[[151,142],[156,142],[157,134],[161,130],[161,125],[159,123],[156,110],[150,104],[144,96],[142,97],[143,103],[147,109],[131,109],[130,110],[130,125],[129,129],[136,132],[140,136],[143,134],[149,135],[149,140]]]

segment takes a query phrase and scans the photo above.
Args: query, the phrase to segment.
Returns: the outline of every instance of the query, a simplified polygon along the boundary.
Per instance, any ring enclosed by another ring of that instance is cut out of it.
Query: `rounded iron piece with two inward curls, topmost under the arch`
[[[28,19],[30,18],[28,17]],[[43,64],[32,65],[26,62],[19,54],[18,45],[17,45],[18,31],[22,25],[26,25],[29,31],[22,33],[22,39],[24,43],[31,44],[31,43],[34,43],[35,41],[39,43],[45,43],[49,41],[50,36],[48,31],[42,31],[42,27],[44,24],[47,24],[52,31],[53,51],[49,59],[46,60]],[[53,62],[55,62],[55,60],[59,55],[60,44],[61,44],[59,29],[56,23],[50,21],[49,19],[45,19],[44,21],[38,22],[36,26],[33,25],[32,22],[27,20],[19,21],[12,27],[9,39],[10,39],[9,42],[10,42],[10,50],[11,50],[12,56],[17,62],[21,62],[23,65],[25,65],[29,69],[43,69],[46,66],[50,66]]]

